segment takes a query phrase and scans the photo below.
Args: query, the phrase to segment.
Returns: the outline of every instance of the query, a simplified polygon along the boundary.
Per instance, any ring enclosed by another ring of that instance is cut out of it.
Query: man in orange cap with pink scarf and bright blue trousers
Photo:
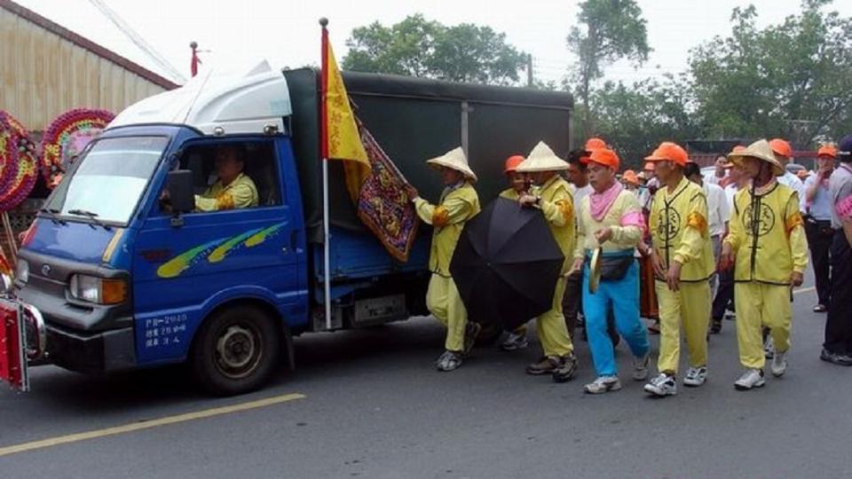
[[[588,179],[594,192],[583,198],[579,209],[572,271],[583,271],[583,312],[597,373],[597,379],[584,388],[589,394],[621,389],[615,350],[607,334],[609,310],[614,312],[616,328],[633,353],[633,378],[644,381],[648,377],[648,336],[639,319],[639,267],[633,257],[642,240],[644,218],[635,194],[616,181],[619,163],[619,156],[610,149],[591,152]],[[603,262],[612,267],[592,292],[586,259],[598,248]]]

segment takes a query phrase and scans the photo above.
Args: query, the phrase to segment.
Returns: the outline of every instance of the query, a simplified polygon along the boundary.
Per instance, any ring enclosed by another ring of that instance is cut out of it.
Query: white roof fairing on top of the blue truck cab
[[[176,90],[128,106],[107,128],[143,123],[191,126],[206,135],[284,131],[283,118],[293,113],[287,80],[263,61],[247,72],[198,75]]]

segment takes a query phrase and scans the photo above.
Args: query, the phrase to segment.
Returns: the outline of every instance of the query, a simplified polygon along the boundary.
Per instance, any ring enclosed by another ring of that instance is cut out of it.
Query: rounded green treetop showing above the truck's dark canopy
[[[410,15],[390,27],[374,22],[352,30],[343,68],[491,84],[514,84],[526,56],[490,27],[447,27]]]

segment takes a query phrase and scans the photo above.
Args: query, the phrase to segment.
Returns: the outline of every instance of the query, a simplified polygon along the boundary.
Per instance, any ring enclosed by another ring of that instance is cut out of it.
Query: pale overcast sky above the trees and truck
[[[91,0],[14,0],[63,27],[90,38],[174,80]],[[576,24],[579,0],[526,0],[489,3],[465,0],[103,0],[110,9],[177,69],[189,76],[192,41],[199,43],[202,68],[234,71],[268,59],[273,67],[319,65],[320,17],[329,19],[335,56],[343,59],[352,28],[379,21],[386,26],[422,13],[446,25],[470,22],[507,35],[507,41],[533,55],[536,78],[556,81],[573,58],[565,36]],[[605,70],[607,80],[634,81],[679,73],[690,48],[730,34],[730,13],[754,4],[758,25],[778,23],[799,11],[800,0],[638,0],[647,20],[650,59],[638,69],[619,62]],[[483,5],[486,5],[485,7]],[[523,5],[521,8],[520,5]],[[852,0],[835,0],[829,9],[852,17]]]

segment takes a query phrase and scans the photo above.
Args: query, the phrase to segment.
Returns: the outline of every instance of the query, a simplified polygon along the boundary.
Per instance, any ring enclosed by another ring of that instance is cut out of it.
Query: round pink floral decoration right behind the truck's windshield
[[[41,170],[45,182],[52,187],[55,182],[51,179],[67,169],[114,117],[107,110],[89,108],[70,110],[56,117],[42,138]]]

